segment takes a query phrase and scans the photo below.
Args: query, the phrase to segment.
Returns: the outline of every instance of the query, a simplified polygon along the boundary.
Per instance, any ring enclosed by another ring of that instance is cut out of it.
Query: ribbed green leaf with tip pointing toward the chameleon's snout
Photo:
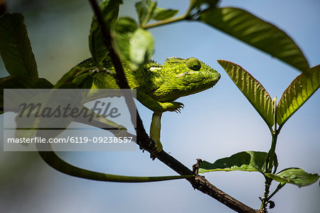
[[[272,114],[272,99],[262,87],[262,84],[255,80],[249,72],[245,71],[239,65],[225,60],[218,60],[218,63],[223,67],[225,72],[245,95],[247,100],[255,107],[255,110],[262,116],[265,123],[272,129],[274,118]]]

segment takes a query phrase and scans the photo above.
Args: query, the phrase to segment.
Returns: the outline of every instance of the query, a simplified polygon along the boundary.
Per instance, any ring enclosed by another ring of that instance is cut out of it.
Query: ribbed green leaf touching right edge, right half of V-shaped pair
[[[277,123],[279,128],[296,112],[320,85],[320,65],[311,67],[308,73],[299,75],[284,90],[277,106]]]

